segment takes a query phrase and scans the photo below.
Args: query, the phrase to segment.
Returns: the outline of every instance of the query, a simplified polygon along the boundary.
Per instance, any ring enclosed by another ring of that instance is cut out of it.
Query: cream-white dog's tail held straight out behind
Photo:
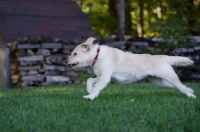
[[[192,65],[194,62],[187,58],[181,56],[165,56],[161,57],[165,62],[170,64],[171,66],[189,66]]]

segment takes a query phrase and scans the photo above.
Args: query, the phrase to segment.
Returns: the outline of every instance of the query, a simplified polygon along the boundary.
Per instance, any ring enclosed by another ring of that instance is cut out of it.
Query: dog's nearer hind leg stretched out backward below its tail
[[[165,71],[163,70],[159,77],[172,84],[175,88],[177,88],[180,92],[186,94],[188,97],[196,98],[196,96],[193,94],[194,91],[191,88],[187,88],[180,82],[177,74],[174,72],[172,67],[168,67]]]

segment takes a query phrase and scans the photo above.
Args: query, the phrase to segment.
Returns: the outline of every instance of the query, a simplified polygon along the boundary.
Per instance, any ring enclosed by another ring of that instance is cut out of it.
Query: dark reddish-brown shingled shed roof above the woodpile
[[[93,35],[89,20],[70,0],[0,0],[0,34],[6,41],[25,35],[63,40]]]

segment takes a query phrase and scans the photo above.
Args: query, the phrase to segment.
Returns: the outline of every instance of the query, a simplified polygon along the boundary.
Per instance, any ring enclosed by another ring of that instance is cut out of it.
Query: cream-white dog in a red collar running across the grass
[[[183,85],[172,66],[188,66],[193,61],[186,57],[132,54],[116,48],[98,45],[91,37],[78,45],[71,56],[64,61],[73,69],[91,66],[96,78],[87,80],[89,95],[85,99],[93,100],[106,87],[111,78],[122,83],[131,83],[143,78],[167,87],[175,87],[188,97],[196,98],[191,88]]]

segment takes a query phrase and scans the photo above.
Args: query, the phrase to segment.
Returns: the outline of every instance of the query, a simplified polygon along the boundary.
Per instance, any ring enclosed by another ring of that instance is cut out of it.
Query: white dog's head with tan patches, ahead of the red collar
[[[95,38],[88,38],[84,43],[78,45],[63,63],[73,69],[90,66],[96,54],[96,47],[98,47],[96,43]]]

